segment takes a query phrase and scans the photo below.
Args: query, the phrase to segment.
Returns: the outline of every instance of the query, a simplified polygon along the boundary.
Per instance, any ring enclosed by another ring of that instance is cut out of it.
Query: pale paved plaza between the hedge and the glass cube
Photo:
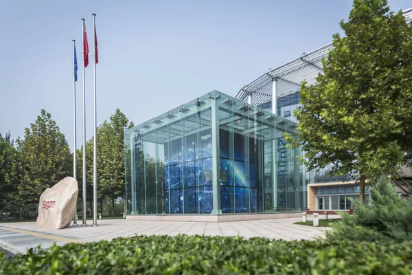
[[[38,228],[34,222],[0,223],[0,247],[13,253],[23,253],[29,248],[48,248],[52,243],[84,243],[111,240],[137,235],[208,235],[208,236],[255,236],[286,241],[316,239],[325,236],[328,228],[314,228],[293,224],[299,218],[266,219],[258,221],[231,221],[221,223],[186,221],[133,221],[126,219],[98,220],[98,227],[71,225],[62,230]],[[81,222],[81,221],[80,221]]]

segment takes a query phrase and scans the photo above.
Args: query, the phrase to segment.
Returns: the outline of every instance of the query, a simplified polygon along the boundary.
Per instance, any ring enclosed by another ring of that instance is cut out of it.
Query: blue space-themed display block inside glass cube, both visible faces
[[[246,162],[245,138],[238,133],[233,134],[236,141],[236,146],[233,146],[233,155],[236,157],[233,160],[229,158],[229,142],[225,142],[229,131],[221,130],[220,135],[220,170],[226,173],[220,181],[222,212],[249,212],[249,207],[252,211],[258,211],[255,140],[249,137],[246,139],[249,142],[249,162]],[[184,144],[186,146],[182,146]],[[205,172],[211,170],[210,130],[166,143],[165,190],[170,194],[170,198],[166,198],[166,212],[169,212],[169,201],[172,213],[211,211],[212,182],[211,178],[205,177]]]

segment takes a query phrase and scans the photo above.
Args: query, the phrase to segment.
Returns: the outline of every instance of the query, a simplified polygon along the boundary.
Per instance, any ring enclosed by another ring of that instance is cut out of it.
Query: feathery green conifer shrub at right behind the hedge
[[[386,177],[371,189],[371,204],[354,201],[353,216],[341,213],[341,221],[327,232],[330,240],[412,241],[412,200],[400,199]]]

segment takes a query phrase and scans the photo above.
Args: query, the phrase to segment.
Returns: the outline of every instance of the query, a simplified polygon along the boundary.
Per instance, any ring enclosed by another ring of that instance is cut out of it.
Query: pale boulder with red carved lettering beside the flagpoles
[[[37,226],[68,228],[76,209],[78,192],[78,182],[73,177],[65,177],[52,188],[47,188],[38,203]]]

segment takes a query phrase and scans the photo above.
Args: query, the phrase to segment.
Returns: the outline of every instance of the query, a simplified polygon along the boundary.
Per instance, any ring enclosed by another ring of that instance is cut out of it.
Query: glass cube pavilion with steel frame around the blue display
[[[301,212],[297,124],[212,91],[125,131],[126,208],[141,214]]]

